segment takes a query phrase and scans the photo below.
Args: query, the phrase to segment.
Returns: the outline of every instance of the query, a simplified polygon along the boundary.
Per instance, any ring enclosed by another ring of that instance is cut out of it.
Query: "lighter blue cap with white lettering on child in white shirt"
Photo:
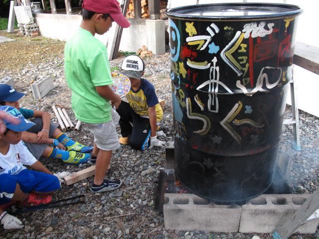
[[[35,125],[35,123],[31,122],[30,120],[25,119],[24,116],[21,114],[21,112],[19,112],[17,109],[15,109],[12,106],[1,106],[0,111],[5,112],[7,115],[9,115],[15,119],[19,119],[19,123],[17,123],[17,124],[11,123],[6,119],[2,119],[3,122],[5,123],[5,126],[8,129],[11,129],[12,131],[22,132],[22,131],[29,129],[33,125]]]

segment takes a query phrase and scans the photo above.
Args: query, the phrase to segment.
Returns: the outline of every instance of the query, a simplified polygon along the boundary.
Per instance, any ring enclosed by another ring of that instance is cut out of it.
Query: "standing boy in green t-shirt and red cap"
[[[91,163],[96,159],[96,170],[91,191],[111,191],[122,185],[120,179],[104,179],[110,164],[112,150],[119,147],[119,139],[112,120],[121,98],[112,84],[106,46],[94,37],[104,34],[116,21],[122,27],[130,23],[123,16],[117,0],[84,0],[80,28],[66,42],[64,70],[68,86],[72,89],[72,110],[75,117],[87,124],[94,134]]]

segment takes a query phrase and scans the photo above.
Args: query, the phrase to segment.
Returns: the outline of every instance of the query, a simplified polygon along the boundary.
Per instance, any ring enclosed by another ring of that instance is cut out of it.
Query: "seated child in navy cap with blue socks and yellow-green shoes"
[[[26,119],[35,117],[31,120],[35,125],[22,133],[22,141],[36,159],[41,156],[60,158],[63,162],[74,164],[85,163],[90,160],[91,155],[88,152],[93,147],[74,142],[66,136],[51,122],[49,113],[20,108],[19,99],[24,95],[15,91],[9,85],[0,84],[0,105],[16,108]],[[48,144],[52,144],[54,147],[48,146]],[[56,149],[55,146],[60,149]],[[66,149],[66,151],[61,149]]]

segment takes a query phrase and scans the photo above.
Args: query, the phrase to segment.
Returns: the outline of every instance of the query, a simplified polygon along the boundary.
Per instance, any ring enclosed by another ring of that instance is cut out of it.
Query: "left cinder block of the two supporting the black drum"
[[[216,205],[194,194],[165,194],[165,230],[237,232],[241,207]]]

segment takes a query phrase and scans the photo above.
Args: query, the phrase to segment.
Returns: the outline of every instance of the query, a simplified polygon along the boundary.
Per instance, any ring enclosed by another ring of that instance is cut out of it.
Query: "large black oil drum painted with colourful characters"
[[[175,174],[198,196],[242,202],[272,183],[301,9],[171,8]]]

